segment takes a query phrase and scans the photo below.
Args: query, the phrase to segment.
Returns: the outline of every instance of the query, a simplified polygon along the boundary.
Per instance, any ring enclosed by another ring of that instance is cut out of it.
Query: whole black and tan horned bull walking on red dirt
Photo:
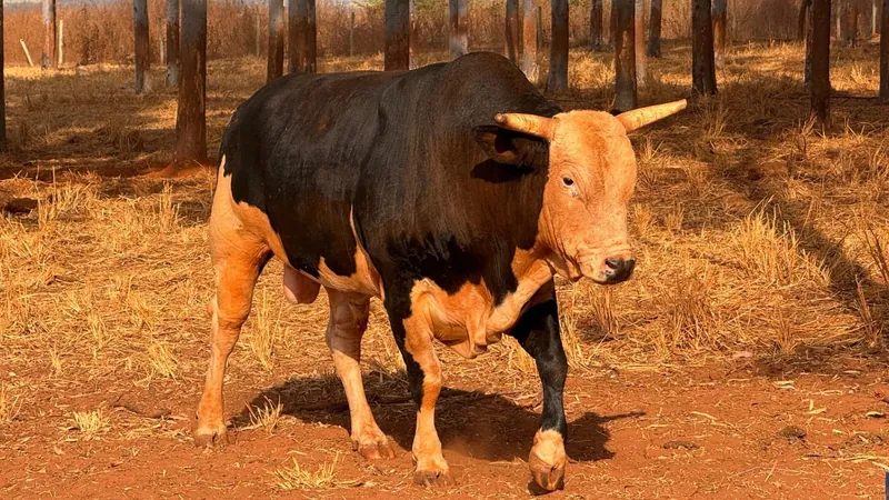
[[[452,482],[436,432],[442,373],[432,342],[473,358],[510,334],[543,386],[532,477],[560,487],[567,363],[552,278],[630,277],[636,159],[627,132],[683,107],[562,112],[492,53],[410,72],[292,74],[259,90],[220,151],[211,358],[196,442],[226,434],[226,362],[276,256],[289,299],[308,303],[327,290],[327,342],[362,456],[393,456],[359,364],[377,297],[417,402],[414,480]]]

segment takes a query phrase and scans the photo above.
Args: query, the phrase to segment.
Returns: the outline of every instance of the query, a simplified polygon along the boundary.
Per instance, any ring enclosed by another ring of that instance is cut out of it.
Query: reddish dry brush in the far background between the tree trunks
[[[319,56],[349,54],[349,26],[354,11],[354,52],[370,54],[383,49],[383,0],[348,2],[317,0]],[[284,2],[287,3],[287,2]],[[608,39],[610,1],[605,2],[605,30]],[[688,38],[691,30],[689,0],[665,0],[662,34],[667,39]],[[502,50],[506,0],[470,0],[470,49]],[[543,41],[549,39],[549,2],[540,3],[543,13]],[[729,38],[732,40],[791,39],[796,36],[799,0],[728,0]],[[865,9],[862,9],[863,11]],[[418,32],[421,50],[444,50],[448,36],[448,1],[417,0]],[[133,53],[132,3],[102,1],[63,3],[58,19],[64,23],[66,63],[128,62]],[[163,28],[163,0],[149,0],[151,60],[159,61],[158,34]],[[570,43],[586,44],[589,39],[589,0],[570,0]],[[862,12],[862,17],[869,12]],[[859,22],[865,31],[867,21]],[[257,29],[259,49],[264,56],[268,7],[238,0],[209,0],[209,59],[254,54]],[[10,4],[4,26],[7,64],[26,64],[19,40],[24,40],[39,63],[42,26],[39,3]]]

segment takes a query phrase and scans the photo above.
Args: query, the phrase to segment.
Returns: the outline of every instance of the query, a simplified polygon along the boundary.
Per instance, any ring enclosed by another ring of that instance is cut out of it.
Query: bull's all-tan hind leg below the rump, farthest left
[[[210,217],[210,252],[216,274],[216,297],[210,303],[212,328],[210,367],[198,406],[196,446],[213,446],[226,438],[222,379],[226,363],[250,314],[253,287],[271,257],[269,247],[246,232],[237,218],[217,210]]]

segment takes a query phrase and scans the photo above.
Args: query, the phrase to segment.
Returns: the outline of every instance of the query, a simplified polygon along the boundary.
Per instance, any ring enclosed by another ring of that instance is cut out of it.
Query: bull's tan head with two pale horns
[[[502,129],[549,142],[549,178],[538,230],[549,251],[547,260],[559,274],[603,284],[630,277],[636,261],[627,207],[636,187],[636,154],[627,132],[685,108],[681,100],[617,117],[600,111],[495,117]],[[503,153],[508,151],[497,152]]]

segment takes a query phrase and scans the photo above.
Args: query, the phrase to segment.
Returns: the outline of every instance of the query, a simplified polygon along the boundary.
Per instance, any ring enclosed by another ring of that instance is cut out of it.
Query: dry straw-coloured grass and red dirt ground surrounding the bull
[[[875,54],[835,50],[826,131],[806,121],[791,43],[733,48],[718,99],[633,136],[639,270],[617,288],[559,286],[572,461],[550,498],[883,497],[889,108],[872,98]],[[571,57],[572,90],[553,99],[607,108],[609,54]],[[685,97],[688,60],[677,44],[652,61],[642,103]],[[38,207],[0,219],[0,498],[527,498],[540,386],[515,341],[475,361],[439,350],[458,484],[423,490],[380,304],[364,382],[397,457],[370,463],[351,450],[327,299],[288,303],[274,261],[226,379],[237,439],[193,447],[213,173],[139,176],[170,160],[176,94],[133,94],[131,71],[7,71],[0,207]],[[210,151],[263,71],[211,63]]]

